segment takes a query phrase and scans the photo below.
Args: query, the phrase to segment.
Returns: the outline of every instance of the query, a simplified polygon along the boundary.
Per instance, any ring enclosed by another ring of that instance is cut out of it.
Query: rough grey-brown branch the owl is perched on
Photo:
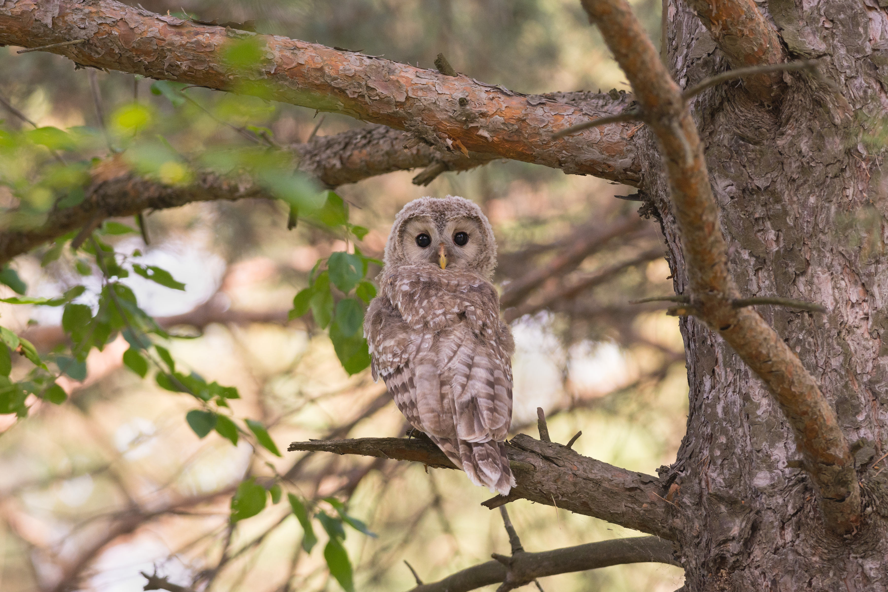
[[[663,501],[661,496],[668,492],[659,478],[620,469],[577,454],[567,446],[541,442],[524,434],[507,442],[506,449],[518,485],[508,498],[501,496],[494,500],[525,499],[556,505],[663,539],[675,538],[676,507]],[[293,442],[288,450],[362,454],[456,469],[438,446],[425,438],[313,440]]]

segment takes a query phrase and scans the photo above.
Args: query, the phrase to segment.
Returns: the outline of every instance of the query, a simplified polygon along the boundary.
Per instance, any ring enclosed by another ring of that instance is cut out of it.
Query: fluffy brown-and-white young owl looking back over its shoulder
[[[496,240],[462,197],[410,201],[385,244],[379,295],[364,318],[373,379],[472,483],[507,495],[509,327],[490,283]]]

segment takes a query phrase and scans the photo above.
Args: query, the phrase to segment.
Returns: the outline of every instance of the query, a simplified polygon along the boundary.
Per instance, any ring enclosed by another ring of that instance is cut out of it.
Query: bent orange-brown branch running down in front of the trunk
[[[718,3],[725,7],[733,4]],[[583,8],[599,25],[662,146],[690,281],[691,307],[765,382],[789,419],[829,529],[841,534],[856,532],[860,486],[836,412],[780,335],[754,310],[733,307],[740,295],[728,269],[703,146],[678,85],[626,0],[583,0]]]

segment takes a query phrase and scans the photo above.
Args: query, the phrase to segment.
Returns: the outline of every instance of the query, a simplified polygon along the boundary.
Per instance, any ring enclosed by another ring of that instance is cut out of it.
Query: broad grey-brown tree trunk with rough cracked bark
[[[820,381],[853,443],[864,521],[848,540],[825,532],[773,397],[720,336],[686,317],[687,434],[661,478],[680,486],[678,543],[694,592],[888,589],[888,473],[875,477],[888,437],[888,199],[879,170],[888,51],[878,49],[888,47],[888,16],[875,0],[804,4],[757,5],[793,58],[825,55],[821,71],[835,89],[786,75],[779,107],[754,103],[739,83],[726,83],[690,108],[742,296],[787,296],[829,309],[758,307]],[[667,18],[668,67],[683,88],[725,69],[685,3],[670,2]],[[649,130],[641,142],[644,188],[662,213],[682,294],[687,280],[661,153]]]

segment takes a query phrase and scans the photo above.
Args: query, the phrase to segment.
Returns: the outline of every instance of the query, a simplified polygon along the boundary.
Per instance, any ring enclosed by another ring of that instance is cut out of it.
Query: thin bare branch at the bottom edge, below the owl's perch
[[[559,573],[585,572],[610,565],[637,563],[681,565],[672,556],[670,541],[655,536],[641,536],[590,542],[541,553],[516,553],[511,556],[511,565],[508,568],[499,561],[488,561],[456,572],[443,580],[421,584],[410,592],[468,592],[505,581],[510,572],[512,578],[529,583],[536,578]]]

